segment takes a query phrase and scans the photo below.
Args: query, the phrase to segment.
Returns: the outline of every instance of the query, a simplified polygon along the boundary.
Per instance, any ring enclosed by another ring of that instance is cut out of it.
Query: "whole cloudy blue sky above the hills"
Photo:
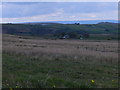
[[[0,22],[118,20],[117,2],[2,2]]]

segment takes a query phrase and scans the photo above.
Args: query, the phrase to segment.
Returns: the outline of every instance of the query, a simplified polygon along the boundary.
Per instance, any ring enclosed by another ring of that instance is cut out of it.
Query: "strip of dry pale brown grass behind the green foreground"
[[[118,61],[117,41],[49,40],[3,35],[3,52],[36,58]]]

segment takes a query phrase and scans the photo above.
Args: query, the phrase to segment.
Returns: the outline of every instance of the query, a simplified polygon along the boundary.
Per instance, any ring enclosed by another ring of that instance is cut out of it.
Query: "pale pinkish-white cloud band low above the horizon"
[[[2,22],[39,22],[39,21],[75,21],[75,20],[117,20],[117,11],[107,12],[107,14],[80,13],[70,15],[65,14],[64,10],[60,9],[57,12],[51,14],[20,18],[2,18]]]

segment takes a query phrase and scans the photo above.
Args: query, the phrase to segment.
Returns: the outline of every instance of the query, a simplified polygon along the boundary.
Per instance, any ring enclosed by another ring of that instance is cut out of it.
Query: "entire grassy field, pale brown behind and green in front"
[[[118,42],[3,35],[3,88],[117,88]]]

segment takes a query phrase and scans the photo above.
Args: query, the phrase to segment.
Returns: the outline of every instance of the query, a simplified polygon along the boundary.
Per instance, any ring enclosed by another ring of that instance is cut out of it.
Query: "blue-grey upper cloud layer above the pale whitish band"
[[[63,8],[65,13],[92,13],[116,10],[118,3],[113,2],[39,2],[3,3],[3,17],[35,16],[49,14]]]

